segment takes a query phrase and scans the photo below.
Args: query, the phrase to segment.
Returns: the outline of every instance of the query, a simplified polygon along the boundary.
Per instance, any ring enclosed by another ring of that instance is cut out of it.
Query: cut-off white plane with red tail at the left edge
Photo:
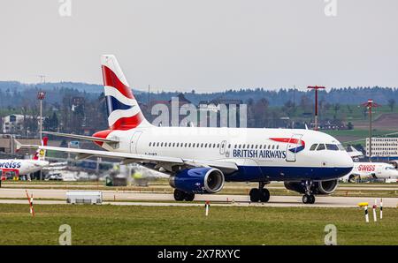
[[[47,146],[48,138],[42,139],[42,146]],[[26,176],[43,168],[49,167],[50,162],[45,161],[46,150],[38,149],[32,159],[3,159],[0,160],[1,176],[14,173],[17,177]]]

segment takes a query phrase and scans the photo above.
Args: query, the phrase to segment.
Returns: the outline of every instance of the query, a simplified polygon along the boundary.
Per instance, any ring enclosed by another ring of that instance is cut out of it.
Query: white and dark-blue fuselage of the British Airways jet
[[[311,130],[151,126],[106,138],[120,141],[117,147],[103,143],[110,151],[234,162],[240,171],[226,175],[232,181],[335,179],[353,166],[339,141]],[[311,149],[314,144],[325,149]]]

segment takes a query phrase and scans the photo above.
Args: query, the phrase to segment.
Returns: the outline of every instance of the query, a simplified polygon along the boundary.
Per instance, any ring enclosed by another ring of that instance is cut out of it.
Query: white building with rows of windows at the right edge
[[[370,140],[366,138],[366,156],[369,156]],[[398,138],[371,138],[371,156],[373,158],[398,158]]]

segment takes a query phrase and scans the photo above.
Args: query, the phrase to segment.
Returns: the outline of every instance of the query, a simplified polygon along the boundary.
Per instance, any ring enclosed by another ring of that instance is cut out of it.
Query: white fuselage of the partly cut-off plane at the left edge
[[[18,173],[19,176],[25,176],[27,174],[34,173],[48,165],[49,162],[40,160],[0,160],[1,171],[15,171],[16,173]]]

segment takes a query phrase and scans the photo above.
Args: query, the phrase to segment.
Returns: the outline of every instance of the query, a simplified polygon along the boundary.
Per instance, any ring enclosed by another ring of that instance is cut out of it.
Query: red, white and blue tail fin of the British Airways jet
[[[111,130],[130,130],[150,125],[135,100],[118,60],[113,55],[101,56],[103,87]]]

